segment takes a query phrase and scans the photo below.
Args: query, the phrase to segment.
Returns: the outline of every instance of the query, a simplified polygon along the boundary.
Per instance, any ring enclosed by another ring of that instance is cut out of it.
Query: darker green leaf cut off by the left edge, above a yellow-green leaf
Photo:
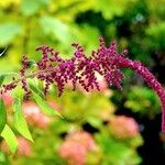
[[[0,133],[3,131],[4,125],[7,123],[7,112],[4,107],[4,101],[0,99]]]

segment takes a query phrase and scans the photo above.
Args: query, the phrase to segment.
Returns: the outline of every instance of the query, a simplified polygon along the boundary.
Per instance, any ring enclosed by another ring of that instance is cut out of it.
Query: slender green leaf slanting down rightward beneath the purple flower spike
[[[43,113],[51,116],[51,117],[57,116],[57,117],[63,118],[62,114],[57,110],[54,110],[51,106],[48,106],[47,102],[42,97],[40,97],[34,90],[32,90],[32,94],[33,94],[33,98],[35,102],[38,105]]]

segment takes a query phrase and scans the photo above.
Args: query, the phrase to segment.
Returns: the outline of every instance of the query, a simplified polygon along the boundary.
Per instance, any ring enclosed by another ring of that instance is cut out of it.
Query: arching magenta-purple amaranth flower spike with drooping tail
[[[99,90],[96,73],[103,76],[109,85],[114,85],[121,89],[123,74],[120,69],[130,68],[142,76],[147,85],[158,95],[163,108],[162,131],[165,132],[165,90],[147,68],[140,62],[125,57],[127,50],[118,53],[116,42],[106,47],[102,37],[99,37],[99,48],[92,51],[89,57],[86,56],[84,48],[79,44],[73,43],[72,46],[75,48],[75,53],[70,59],[61,58],[59,53],[50,46],[37,47],[36,51],[42,52],[42,59],[37,62],[37,72],[32,74],[28,74],[30,69],[28,65],[29,59],[24,56],[20,78],[8,85],[2,85],[1,94],[15,88],[21,81],[22,88],[26,94],[25,99],[28,99],[31,91],[26,79],[34,77],[45,82],[45,95],[52,84],[57,86],[58,96],[63,94],[64,87],[68,82],[73,84],[73,90],[76,89],[76,85],[81,85],[86,91],[94,88]]]

